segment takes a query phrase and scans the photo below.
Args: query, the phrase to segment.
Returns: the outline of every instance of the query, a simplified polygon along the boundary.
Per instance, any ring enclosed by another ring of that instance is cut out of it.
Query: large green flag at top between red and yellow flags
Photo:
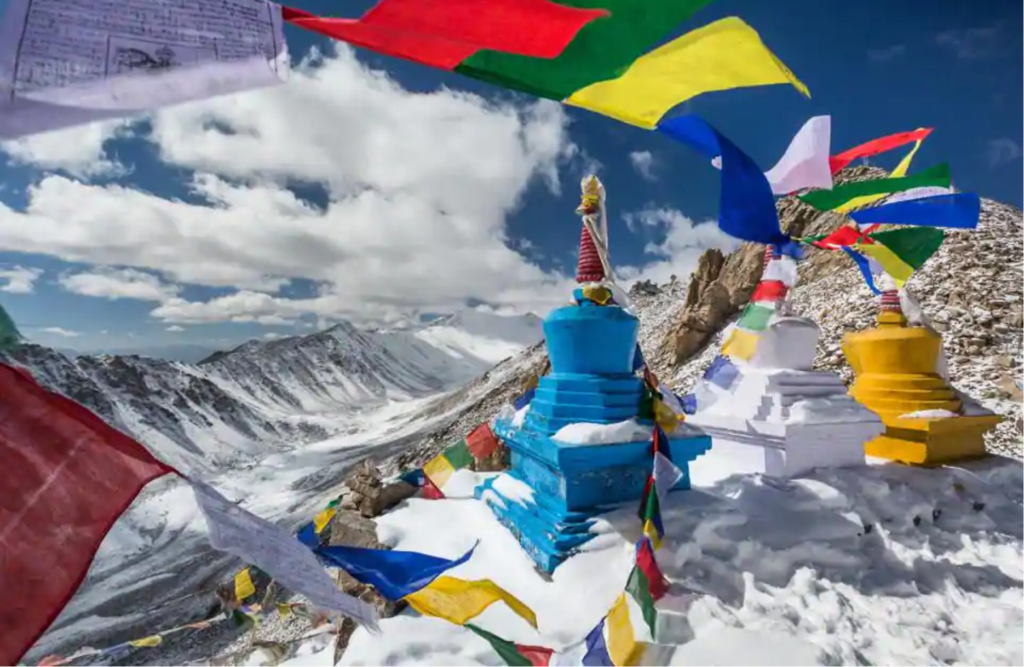
[[[555,0],[581,9],[607,9],[554,58],[481,50],[455,72],[538,97],[561,101],[598,81],[622,76],[641,55],[713,0]]]

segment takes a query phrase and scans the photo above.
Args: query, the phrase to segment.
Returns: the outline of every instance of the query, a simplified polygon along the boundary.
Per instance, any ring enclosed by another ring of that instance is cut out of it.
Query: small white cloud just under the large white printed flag
[[[116,136],[127,135],[132,121],[106,121],[66,130],[33,134],[0,142],[0,151],[14,163],[42,169],[62,169],[82,178],[118,176],[125,167],[105,157],[103,145]]]

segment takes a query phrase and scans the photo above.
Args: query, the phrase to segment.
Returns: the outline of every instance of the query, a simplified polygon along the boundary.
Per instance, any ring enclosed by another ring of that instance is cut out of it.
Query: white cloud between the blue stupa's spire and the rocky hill
[[[722,232],[714,220],[694,222],[682,212],[668,209],[648,209],[627,215],[627,222],[634,227],[653,227],[665,234],[660,243],[648,243],[644,252],[657,257],[641,266],[623,266],[616,278],[626,286],[637,281],[649,280],[667,283],[672,276],[680,280],[696,268],[705,250],[719,248],[730,252],[739,242]]]

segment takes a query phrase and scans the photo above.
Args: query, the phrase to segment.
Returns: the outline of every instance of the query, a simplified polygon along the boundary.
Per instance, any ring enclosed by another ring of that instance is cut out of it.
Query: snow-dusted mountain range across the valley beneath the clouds
[[[466,311],[402,331],[341,323],[198,364],[34,344],[11,357],[167,463],[210,474],[328,437],[346,416],[455,389],[541,337],[537,316]]]

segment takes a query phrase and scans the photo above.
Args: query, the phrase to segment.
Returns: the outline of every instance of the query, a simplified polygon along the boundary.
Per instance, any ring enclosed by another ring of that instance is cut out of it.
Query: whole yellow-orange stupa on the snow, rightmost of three
[[[1002,418],[987,411],[964,414],[956,392],[938,374],[941,349],[939,334],[906,326],[895,290],[883,293],[874,329],[843,337],[856,376],[850,394],[886,425],[864,446],[868,456],[929,465],[985,455],[985,431]]]

